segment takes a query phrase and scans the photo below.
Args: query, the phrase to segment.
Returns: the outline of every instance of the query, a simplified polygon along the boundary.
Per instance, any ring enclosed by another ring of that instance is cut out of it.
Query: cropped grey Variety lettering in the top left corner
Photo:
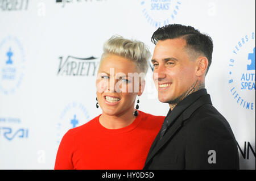
[[[21,11],[27,10],[28,0],[0,0],[0,10]]]

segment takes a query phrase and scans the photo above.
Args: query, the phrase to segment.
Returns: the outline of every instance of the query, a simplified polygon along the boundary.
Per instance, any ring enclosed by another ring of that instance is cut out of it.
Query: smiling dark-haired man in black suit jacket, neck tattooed
[[[170,111],[144,169],[239,169],[232,129],[204,85],[212,39],[191,26],[170,24],[158,28],[151,40],[158,98]]]

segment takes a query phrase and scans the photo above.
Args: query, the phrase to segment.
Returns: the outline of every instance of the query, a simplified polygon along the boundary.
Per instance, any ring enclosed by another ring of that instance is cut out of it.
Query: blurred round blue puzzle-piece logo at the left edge
[[[0,91],[13,94],[24,77],[24,50],[16,37],[0,41]]]

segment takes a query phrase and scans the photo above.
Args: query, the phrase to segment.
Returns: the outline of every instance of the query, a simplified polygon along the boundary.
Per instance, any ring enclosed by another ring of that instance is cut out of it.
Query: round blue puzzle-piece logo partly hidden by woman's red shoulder
[[[77,102],[67,104],[60,114],[59,123],[57,123],[57,144],[69,129],[85,124],[89,120],[90,115],[84,104]]]

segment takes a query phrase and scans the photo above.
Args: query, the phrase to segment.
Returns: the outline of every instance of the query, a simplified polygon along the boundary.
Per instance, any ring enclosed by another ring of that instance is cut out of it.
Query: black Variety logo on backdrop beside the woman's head
[[[94,76],[100,62],[95,57],[78,58],[68,56],[60,57],[59,69],[57,75],[66,76]]]

